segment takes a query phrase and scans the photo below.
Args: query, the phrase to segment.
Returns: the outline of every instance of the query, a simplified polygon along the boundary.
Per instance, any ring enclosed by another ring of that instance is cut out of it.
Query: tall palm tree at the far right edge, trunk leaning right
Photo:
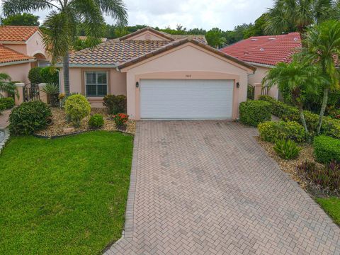
[[[310,62],[322,67],[322,74],[328,82],[321,84],[324,91],[322,106],[319,114],[317,134],[322,127],[322,118],[327,107],[328,93],[330,90],[339,89],[340,72],[336,68],[336,61],[340,55],[340,21],[326,21],[310,28],[307,32],[307,54]]]

